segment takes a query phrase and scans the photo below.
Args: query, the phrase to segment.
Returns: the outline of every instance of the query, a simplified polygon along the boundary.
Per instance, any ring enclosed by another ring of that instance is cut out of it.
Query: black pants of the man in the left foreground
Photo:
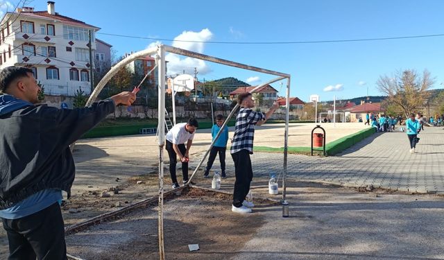
[[[10,260],[67,259],[65,227],[58,202],[24,218],[3,218],[3,228],[8,234]]]

